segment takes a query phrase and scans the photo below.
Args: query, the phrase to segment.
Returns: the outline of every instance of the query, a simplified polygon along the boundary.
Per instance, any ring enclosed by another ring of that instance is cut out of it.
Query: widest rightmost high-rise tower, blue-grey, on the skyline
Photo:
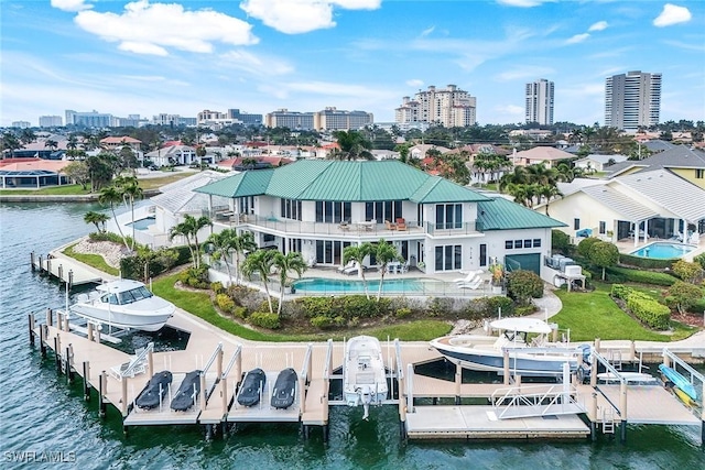
[[[661,74],[636,70],[605,79],[605,125],[625,131],[659,123]]]

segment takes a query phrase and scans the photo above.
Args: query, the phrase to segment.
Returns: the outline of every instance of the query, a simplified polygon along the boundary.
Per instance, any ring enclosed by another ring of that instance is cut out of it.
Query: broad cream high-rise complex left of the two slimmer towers
[[[448,85],[446,89],[430,86],[419,91],[412,100],[403,97],[402,105],[394,110],[398,123],[429,122],[446,128],[473,125],[476,121],[477,99],[467,91]]]

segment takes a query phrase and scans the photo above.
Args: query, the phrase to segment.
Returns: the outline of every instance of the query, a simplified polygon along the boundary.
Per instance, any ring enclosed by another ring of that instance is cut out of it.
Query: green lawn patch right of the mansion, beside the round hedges
[[[649,293],[654,295],[653,292]],[[662,335],[644,328],[615,304],[609,297],[607,284],[598,284],[594,292],[556,291],[556,295],[563,303],[563,309],[551,317],[551,321],[557,323],[561,329],[570,328],[572,341],[600,338],[666,342],[683,339],[695,331],[680,324],[674,324],[673,335]]]

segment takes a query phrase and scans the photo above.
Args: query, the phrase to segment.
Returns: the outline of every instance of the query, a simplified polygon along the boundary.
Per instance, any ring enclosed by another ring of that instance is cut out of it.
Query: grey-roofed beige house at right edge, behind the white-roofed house
[[[705,189],[705,152],[685,145],[674,145],[672,149],[648,159],[626,161],[608,168],[612,178],[654,170],[668,170]]]

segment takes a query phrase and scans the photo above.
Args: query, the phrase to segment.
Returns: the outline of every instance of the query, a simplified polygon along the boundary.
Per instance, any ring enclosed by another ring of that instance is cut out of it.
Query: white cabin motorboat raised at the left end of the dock
[[[174,314],[175,307],[139,281],[118,280],[100,284],[89,294],[79,294],[68,310],[93,324],[158,331]]]

